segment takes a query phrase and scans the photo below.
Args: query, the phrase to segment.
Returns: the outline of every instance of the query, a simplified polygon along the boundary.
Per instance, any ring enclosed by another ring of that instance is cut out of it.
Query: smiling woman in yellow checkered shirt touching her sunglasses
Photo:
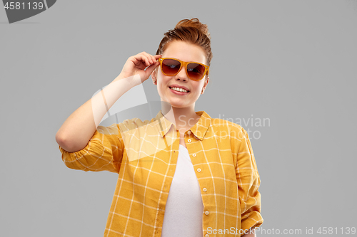
[[[184,19],[164,35],[155,56],[131,56],[64,122],[56,134],[64,164],[119,174],[104,236],[255,236],[263,218],[248,134],[195,112],[209,81],[208,28]],[[150,75],[161,98],[155,118],[98,126],[121,95]]]

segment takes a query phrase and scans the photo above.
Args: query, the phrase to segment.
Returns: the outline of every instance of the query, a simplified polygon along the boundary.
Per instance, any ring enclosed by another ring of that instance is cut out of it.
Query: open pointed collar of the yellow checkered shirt
[[[199,115],[201,117],[198,122],[196,122],[196,125],[191,127],[190,130],[193,135],[195,135],[198,139],[202,141],[203,137],[206,135],[208,127],[211,125],[211,117],[205,111],[198,111],[196,112],[196,115]],[[167,132],[169,132],[171,126],[174,126],[174,129],[176,130],[176,126],[174,125],[174,123],[167,120],[166,117],[164,117],[164,115],[162,114],[161,110],[156,115],[155,120],[158,121],[157,127],[161,137],[164,137]]]

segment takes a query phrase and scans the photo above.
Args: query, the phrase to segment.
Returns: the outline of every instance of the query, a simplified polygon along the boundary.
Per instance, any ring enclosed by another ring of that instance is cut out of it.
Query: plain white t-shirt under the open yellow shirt
[[[202,215],[201,189],[188,150],[180,144],[161,237],[203,236]]]

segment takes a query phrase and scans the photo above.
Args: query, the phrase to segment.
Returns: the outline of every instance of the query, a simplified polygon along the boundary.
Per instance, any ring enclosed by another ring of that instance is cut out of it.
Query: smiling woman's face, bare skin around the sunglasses
[[[200,46],[186,43],[183,41],[171,41],[162,54],[163,58],[177,58],[185,62],[197,62],[206,64],[205,51]],[[169,102],[173,107],[188,107],[193,105],[202,92],[203,85],[206,83],[205,75],[201,80],[191,80],[186,74],[186,68],[174,76],[164,75],[160,66],[154,71],[154,78],[157,78],[157,88],[162,101]],[[169,86],[177,84],[188,88],[189,93],[178,95]]]

